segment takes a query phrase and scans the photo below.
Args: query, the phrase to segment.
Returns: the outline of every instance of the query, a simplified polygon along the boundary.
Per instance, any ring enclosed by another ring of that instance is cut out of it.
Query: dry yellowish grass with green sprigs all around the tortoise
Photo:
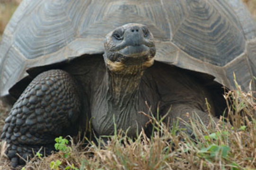
[[[243,0],[256,19],[256,0]],[[0,0],[0,34],[2,34],[9,18],[19,1]],[[70,139],[71,152],[67,158],[62,151],[48,157],[34,157],[24,169],[47,170],[57,160],[58,168],[81,170],[253,170],[256,169],[256,102],[252,93],[244,93],[239,87],[237,91],[226,93],[226,100],[231,101],[227,112],[230,123],[220,123],[216,128],[205,127],[200,120],[191,120],[194,138],[173,127],[169,130],[161,122],[153,136],[147,137],[142,131],[134,141],[124,132],[111,137],[108,144],[99,147],[96,144],[83,146]],[[239,116],[243,113],[244,116]],[[6,106],[0,102],[0,129],[8,114]],[[249,121],[250,120],[250,121]],[[212,124],[214,124],[212,122]],[[198,128],[200,127],[200,128]],[[177,135],[177,131],[180,133]],[[179,140],[183,138],[184,140]],[[4,154],[6,145],[1,141],[0,170],[10,170],[10,162]],[[35,161],[36,160],[36,161]],[[18,167],[21,169],[21,167]],[[55,167],[58,169],[57,167]]]

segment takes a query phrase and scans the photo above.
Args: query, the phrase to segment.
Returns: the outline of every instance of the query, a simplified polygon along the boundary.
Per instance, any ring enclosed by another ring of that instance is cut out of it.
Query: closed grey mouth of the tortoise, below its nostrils
[[[119,50],[119,53],[126,57],[139,57],[145,56],[150,52],[150,48],[144,44],[128,45]]]

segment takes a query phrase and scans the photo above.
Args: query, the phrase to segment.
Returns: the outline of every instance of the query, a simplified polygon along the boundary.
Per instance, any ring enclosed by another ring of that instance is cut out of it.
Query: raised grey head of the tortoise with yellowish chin
[[[115,73],[142,71],[154,63],[156,48],[147,26],[126,24],[106,35],[106,68]]]

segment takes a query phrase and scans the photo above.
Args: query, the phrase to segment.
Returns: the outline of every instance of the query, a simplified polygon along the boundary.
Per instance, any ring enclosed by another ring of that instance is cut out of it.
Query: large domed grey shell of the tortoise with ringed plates
[[[256,75],[256,24],[240,0],[23,0],[0,44],[0,96],[29,68],[104,52],[105,35],[147,25],[156,60],[243,89]],[[253,84],[254,85],[254,84]]]

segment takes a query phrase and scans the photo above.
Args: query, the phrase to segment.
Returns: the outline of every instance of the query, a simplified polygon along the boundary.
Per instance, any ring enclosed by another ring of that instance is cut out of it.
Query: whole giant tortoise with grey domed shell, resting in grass
[[[97,135],[111,135],[113,115],[135,136],[146,102],[160,114],[171,106],[168,118],[196,112],[207,123],[205,98],[222,113],[221,86],[235,86],[233,72],[249,89],[255,49],[256,25],[240,0],[23,0],[0,45],[0,95],[16,101],[1,135],[6,153],[13,166],[16,153],[49,153],[55,137],[91,118]]]

